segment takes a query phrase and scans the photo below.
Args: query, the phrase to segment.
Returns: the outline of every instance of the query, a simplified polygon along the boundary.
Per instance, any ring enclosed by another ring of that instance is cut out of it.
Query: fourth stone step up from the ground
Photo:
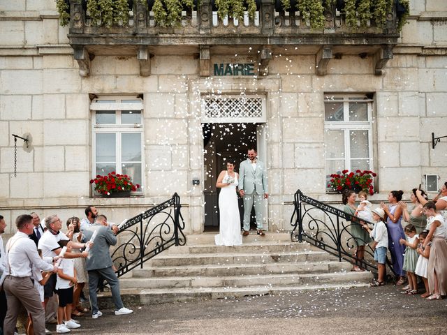
[[[317,262],[335,259],[325,251],[298,251],[286,253],[198,253],[178,257],[178,255],[159,255],[146,264],[150,267],[173,267],[184,265],[246,265],[253,263],[276,262]]]

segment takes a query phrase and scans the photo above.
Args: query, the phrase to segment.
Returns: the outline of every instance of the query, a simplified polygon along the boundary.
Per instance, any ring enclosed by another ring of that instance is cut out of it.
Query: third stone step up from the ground
[[[133,269],[133,278],[154,278],[167,276],[245,276],[251,274],[318,274],[322,272],[349,271],[347,262],[302,262],[245,265],[189,265],[182,267],[145,267]]]

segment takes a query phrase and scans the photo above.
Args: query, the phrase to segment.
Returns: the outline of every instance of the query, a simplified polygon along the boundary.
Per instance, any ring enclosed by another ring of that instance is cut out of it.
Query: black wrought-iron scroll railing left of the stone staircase
[[[170,200],[119,225],[117,236],[124,242],[117,244],[112,253],[117,276],[142,268],[144,262],[171,246],[186,244],[180,208],[180,197],[175,193]]]

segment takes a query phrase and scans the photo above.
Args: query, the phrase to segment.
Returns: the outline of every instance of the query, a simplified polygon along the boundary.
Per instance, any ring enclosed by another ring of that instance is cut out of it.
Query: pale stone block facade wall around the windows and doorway
[[[394,59],[382,76],[373,59],[355,54],[331,59],[316,75],[314,54],[274,54],[266,78],[199,76],[194,54],[155,54],[152,74],[139,75],[136,57],[96,55],[91,75],[80,77],[68,29],[57,24],[53,0],[1,1],[0,13],[0,208],[8,232],[26,211],[61,218],[83,216],[97,204],[117,223],[179,193],[187,232],[203,229],[203,154],[200,94],[209,91],[265,94],[268,100],[267,163],[270,230],[288,230],[293,193],[326,201],[323,95],[374,93],[374,169],[380,194],[409,191],[424,174],[447,180],[447,140],[431,149],[431,133],[447,135],[447,4],[411,1],[411,17]],[[212,56],[244,61],[250,55]],[[89,94],[143,94],[144,198],[90,198]],[[14,177],[12,134],[32,136],[31,151],[17,144]],[[201,184],[192,186],[193,177]]]

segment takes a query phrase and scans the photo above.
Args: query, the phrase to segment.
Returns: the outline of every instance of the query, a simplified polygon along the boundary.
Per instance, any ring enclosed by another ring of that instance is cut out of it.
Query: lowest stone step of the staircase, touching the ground
[[[339,290],[342,288],[366,287],[369,283],[350,281],[345,283],[304,284],[293,286],[260,285],[241,288],[169,288],[169,289],[122,289],[121,295],[127,306],[163,304],[166,302],[194,301],[198,299],[221,299],[249,295],[286,295],[316,290]],[[113,308],[110,292],[98,295],[100,308]]]

